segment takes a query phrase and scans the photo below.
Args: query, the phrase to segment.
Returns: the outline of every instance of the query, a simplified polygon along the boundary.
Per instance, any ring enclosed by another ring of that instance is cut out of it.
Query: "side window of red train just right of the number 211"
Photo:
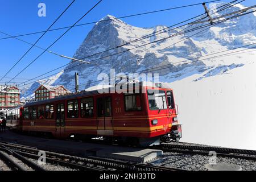
[[[141,110],[141,94],[125,94],[125,110]]]

